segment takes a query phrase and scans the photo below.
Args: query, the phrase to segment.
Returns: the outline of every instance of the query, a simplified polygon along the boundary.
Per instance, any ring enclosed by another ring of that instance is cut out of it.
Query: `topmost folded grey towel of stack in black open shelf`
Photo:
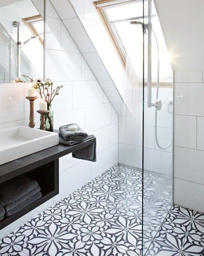
[[[31,190],[38,186],[37,181],[31,180],[24,175],[20,175],[4,183],[0,186],[0,204],[2,206],[13,203],[22,198]]]

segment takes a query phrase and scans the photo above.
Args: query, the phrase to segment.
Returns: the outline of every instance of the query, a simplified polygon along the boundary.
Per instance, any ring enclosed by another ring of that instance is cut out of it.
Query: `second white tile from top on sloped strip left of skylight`
[[[63,22],[81,52],[96,52],[79,18],[63,20]]]

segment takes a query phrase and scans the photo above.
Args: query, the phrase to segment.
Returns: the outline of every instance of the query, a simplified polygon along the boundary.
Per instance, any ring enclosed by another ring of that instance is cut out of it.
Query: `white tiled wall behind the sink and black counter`
[[[71,154],[61,157],[59,195],[1,230],[0,236],[10,233],[118,162],[118,115],[50,1],[47,1],[46,18],[46,76],[56,86],[64,85],[53,102],[54,128],[76,122],[88,133],[95,134],[97,162],[75,159]],[[29,104],[25,99],[28,87],[31,84],[0,85],[0,129],[28,125]],[[39,127],[38,114],[35,122]]]

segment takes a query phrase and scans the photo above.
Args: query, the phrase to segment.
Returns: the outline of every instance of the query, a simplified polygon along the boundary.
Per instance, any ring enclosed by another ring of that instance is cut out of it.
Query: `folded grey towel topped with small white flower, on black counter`
[[[67,129],[71,125],[77,125],[77,124],[71,123],[69,125],[62,125],[59,127],[59,132],[62,135],[63,139],[70,141],[70,144],[68,145],[73,145],[75,141],[81,141],[88,137],[88,134],[85,131],[83,131],[79,127],[79,125],[77,125],[77,131],[68,131]]]

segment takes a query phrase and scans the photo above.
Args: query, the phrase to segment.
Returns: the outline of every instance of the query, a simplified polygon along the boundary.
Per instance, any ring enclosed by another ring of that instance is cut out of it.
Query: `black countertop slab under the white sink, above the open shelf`
[[[71,146],[59,144],[51,148],[46,148],[42,151],[38,151],[34,154],[30,154],[26,157],[21,157],[17,160],[0,165],[0,183],[17,177],[39,166],[45,165],[46,163],[49,163],[53,160],[57,160],[59,157],[63,157],[66,154],[70,154],[74,151],[91,145],[94,142],[96,142],[96,138],[85,140],[81,143]]]

